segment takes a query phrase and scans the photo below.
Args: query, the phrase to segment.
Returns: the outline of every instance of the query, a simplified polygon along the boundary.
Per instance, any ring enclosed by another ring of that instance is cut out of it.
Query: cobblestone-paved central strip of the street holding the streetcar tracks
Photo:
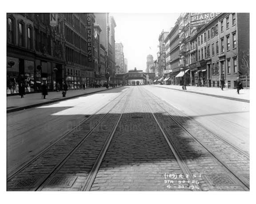
[[[8,177],[7,190],[249,190],[247,151],[147,86],[116,92],[115,98],[17,167]]]

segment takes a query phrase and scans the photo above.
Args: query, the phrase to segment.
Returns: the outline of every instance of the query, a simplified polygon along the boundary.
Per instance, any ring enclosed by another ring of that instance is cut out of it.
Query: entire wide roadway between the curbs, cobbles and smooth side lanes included
[[[7,114],[8,191],[248,191],[249,103],[123,86]]]

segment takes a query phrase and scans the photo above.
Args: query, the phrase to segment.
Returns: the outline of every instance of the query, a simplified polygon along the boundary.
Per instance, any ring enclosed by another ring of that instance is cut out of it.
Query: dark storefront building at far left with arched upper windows
[[[7,14],[7,94],[40,91],[46,83],[55,88],[64,78],[60,27],[52,29],[50,14]],[[62,23],[60,20],[58,23]]]

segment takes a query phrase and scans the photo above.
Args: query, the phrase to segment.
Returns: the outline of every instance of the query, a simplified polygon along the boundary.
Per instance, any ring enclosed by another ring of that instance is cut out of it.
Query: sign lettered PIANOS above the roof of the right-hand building
[[[219,14],[220,13],[190,13],[190,24],[192,27],[204,25]]]

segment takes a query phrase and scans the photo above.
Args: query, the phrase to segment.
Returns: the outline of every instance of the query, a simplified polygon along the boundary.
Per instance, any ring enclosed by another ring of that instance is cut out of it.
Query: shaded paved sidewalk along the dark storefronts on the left
[[[50,104],[50,103],[54,103],[61,100],[67,100],[67,99],[75,98],[77,96],[87,95],[89,93],[101,92],[101,91],[106,91],[111,89],[113,88],[107,89],[106,87],[101,87],[101,88],[68,90],[66,97],[62,96],[62,91],[48,92],[46,99],[43,99],[41,92],[26,94],[24,98],[20,98],[19,95],[7,96],[7,113],[23,110],[26,108],[32,108],[32,107],[36,107],[44,104]]]

